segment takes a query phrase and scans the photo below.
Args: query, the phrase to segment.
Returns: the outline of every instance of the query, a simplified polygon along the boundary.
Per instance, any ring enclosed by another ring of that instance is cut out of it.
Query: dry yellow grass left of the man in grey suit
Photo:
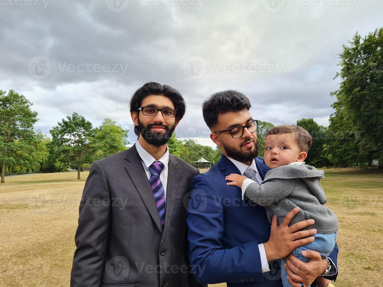
[[[89,172],[31,174],[0,185],[0,285],[69,286],[74,233]]]

